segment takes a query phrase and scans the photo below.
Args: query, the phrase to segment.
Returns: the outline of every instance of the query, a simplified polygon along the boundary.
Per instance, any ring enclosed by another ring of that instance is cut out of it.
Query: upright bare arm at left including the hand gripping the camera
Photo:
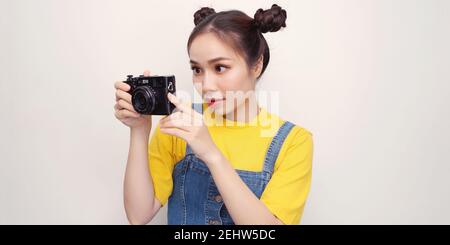
[[[150,71],[144,71],[150,76]],[[146,224],[161,207],[155,198],[148,167],[148,140],[152,128],[150,115],[137,113],[131,103],[130,86],[116,82],[115,116],[130,128],[130,149],[124,180],[124,204],[131,224]]]

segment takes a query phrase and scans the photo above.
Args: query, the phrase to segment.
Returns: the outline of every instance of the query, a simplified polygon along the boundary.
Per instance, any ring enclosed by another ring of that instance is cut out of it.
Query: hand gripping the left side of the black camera
[[[150,76],[150,71],[144,71],[144,76]],[[116,88],[116,104],[114,115],[119,121],[130,128],[151,129],[151,115],[142,115],[136,112],[131,103],[131,94],[128,93],[130,85],[119,81],[114,84]]]

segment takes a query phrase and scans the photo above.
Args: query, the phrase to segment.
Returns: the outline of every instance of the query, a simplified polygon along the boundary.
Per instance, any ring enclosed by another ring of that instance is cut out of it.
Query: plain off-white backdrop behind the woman
[[[193,13],[272,3],[287,27],[258,89],[313,133],[301,223],[449,224],[446,0],[1,0],[0,224],[127,224],[114,82],[150,69],[192,91]]]

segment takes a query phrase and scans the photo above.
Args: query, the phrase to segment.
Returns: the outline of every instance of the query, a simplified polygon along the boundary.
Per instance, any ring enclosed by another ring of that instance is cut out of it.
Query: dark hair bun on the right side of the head
[[[270,9],[258,9],[254,16],[255,26],[262,32],[276,32],[286,27],[286,10],[273,4]]]

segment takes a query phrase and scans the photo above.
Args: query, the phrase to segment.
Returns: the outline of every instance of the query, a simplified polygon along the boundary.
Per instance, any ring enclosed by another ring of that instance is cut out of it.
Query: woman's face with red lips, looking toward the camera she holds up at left
[[[215,34],[197,36],[189,57],[194,87],[215,114],[234,112],[255,90],[260,67],[249,69],[244,58]]]

